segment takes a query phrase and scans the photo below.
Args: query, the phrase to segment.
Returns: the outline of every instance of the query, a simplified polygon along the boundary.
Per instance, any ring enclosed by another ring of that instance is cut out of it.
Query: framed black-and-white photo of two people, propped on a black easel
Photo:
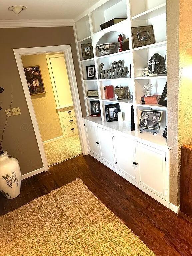
[[[139,127],[145,129],[159,130],[162,111],[141,110]]]

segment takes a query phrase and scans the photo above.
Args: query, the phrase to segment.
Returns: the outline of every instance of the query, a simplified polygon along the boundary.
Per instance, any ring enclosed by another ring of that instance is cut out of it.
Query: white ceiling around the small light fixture
[[[0,20],[74,19],[96,2],[95,0],[0,0]],[[22,5],[27,9],[17,15],[8,10],[13,5]]]

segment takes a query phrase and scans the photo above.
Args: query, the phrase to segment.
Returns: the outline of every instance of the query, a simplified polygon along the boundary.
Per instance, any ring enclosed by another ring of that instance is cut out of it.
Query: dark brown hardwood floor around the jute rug
[[[79,177],[157,256],[192,255],[192,224],[89,155],[69,159],[22,181],[21,194],[15,199],[7,200],[1,194],[0,215]]]

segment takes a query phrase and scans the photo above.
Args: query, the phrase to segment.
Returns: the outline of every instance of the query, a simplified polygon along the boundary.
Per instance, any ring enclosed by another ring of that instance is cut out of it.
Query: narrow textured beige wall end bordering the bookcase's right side
[[[179,0],[167,0],[167,73],[168,145],[171,147],[170,201],[178,205]]]

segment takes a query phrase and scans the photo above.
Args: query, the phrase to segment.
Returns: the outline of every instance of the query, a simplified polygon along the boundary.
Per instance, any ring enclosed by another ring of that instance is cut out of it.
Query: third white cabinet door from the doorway
[[[129,176],[133,180],[136,179],[136,167],[134,162],[134,151],[135,145],[134,141],[124,137],[124,136],[115,136],[114,139],[115,145],[115,155],[117,161],[117,169],[122,173]]]

